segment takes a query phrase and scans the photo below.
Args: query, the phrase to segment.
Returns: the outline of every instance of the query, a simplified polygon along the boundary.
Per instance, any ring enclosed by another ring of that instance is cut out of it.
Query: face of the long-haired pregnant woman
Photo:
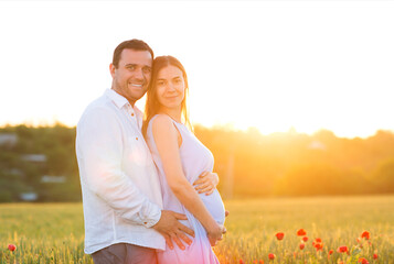
[[[155,85],[158,100],[162,107],[181,110],[185,85],[180,68],[169,65],[160,69]]]

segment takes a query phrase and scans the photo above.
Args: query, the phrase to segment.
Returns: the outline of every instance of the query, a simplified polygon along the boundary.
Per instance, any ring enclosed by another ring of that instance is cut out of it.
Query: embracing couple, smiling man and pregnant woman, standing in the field
[[[212,153],[191,131],[185,69],[139,40],[120,43],[109,69],[111,89],[76,129],[85,253],[95,264],[219,263],[225,210]]]

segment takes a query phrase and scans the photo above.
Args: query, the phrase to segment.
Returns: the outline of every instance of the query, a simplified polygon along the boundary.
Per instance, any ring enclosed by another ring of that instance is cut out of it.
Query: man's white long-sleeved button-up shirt
[[[164,238],[150,228],[161,217],[162,198],[141,123],[141,112],[108,89],[77,124],[87,254],[121,242],[166,248]]]

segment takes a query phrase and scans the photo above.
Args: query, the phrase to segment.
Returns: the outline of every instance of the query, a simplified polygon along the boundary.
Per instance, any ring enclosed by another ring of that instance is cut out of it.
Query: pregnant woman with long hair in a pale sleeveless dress
[[[222,239],[225,210],[216,189],[206,196],[191,185],[202,172],[212,172],[213,156],[190,131],[187,73],[172,56],[157,57],[152,68],[142,132],[159,170],[164,209],[187,215],[182,223],[195,233],[190,245],[159,252],[158,261],[219,263],[211,245]]]

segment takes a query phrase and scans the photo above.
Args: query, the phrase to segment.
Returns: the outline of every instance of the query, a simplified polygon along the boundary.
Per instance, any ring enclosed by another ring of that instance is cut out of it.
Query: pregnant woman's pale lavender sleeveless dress
[[[219,264],[215,253],[212,251],[210,241],[206,237],[206,231],[200,221],[184,208],[184,206],[178,200],[168,185],[167,177],[163,170],[161,158],[157,150],[155,139],[152,135],[152,122],[157,116],[155,116],[147,130],[147,143],[152,153],[152,158],[158,169],[161,194],[163,198],[163,208],[166,210],[172,210],[183,213],[188,217],[188,220],[181,222],[193,229],[195,238],[192,238],[192,243],[185,245],[185,250],[182,251],[178,246],[173,250],[168,249],[166,251],[158,252],[159,264],[185,264],[185,263],[199,263],[199,264]],[[213,169],[213,155],[183,124],[172,120],[173,124],[182,136],[182,144],[179,148],[179,154],[182,161],[183,174],[188,182],[192,185],[203,172],[212,172]],[[219,191],[215,189],[213,194],[206,196],[205,194],[199,195],[207,211],[216,220],[217,223],[224,223],[224,205]]]

